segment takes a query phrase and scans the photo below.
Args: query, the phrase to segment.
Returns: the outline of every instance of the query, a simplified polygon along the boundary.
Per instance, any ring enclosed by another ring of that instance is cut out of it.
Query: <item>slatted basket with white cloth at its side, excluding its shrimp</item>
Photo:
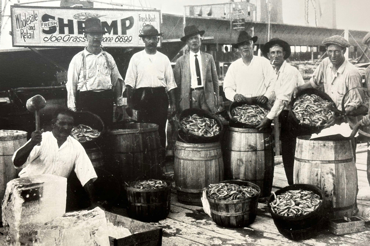
[[[257,185],[241,180],[227,180],[222,183],[238,184],[255,188],[258,194],[239,200],[218,200],[208,197],[209,208],[213,222],[225,227],[245,227],[251,224],[257,216],[258,197],[260,189]]]

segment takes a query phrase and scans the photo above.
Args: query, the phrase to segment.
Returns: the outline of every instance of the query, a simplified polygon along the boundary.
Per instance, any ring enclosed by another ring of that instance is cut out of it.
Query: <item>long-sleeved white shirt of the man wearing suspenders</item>
[[[84,86],[83,54],[86,57],[86,85]],[[107,64],[107,60],[108,63]],[[94,55],[87,51],[78,52],[71,60],[67,76],[67,106],[75,109],[76,93],[80,91],[103,91],[114,89],[118,79],[122,80],[117,65],[109,53],[101,51]],[[123,89],[124,90],[124,89]],[[122,90],[122,91],[123,91]],[[117,106],[123,105],[122,96],[115,98]]]

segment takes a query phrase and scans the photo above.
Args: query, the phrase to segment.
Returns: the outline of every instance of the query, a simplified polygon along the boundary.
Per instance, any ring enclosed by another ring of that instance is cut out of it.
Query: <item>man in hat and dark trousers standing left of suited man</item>
[[[175,114],[176,83],[172,72],[171,63],[167,56],[157,51],[159,36],[152,25],[145,25],[139,35],[145,43],[143,51],[135,53],[128,64],[125,77],[127,90],[127,114],[132,116],[132,108],[139,111],[140,122],[158,125],[161,140],[162,155],[166,147],[166,120],[168,103],[171,114]],[[168,102],[168,96],[170,102]]]

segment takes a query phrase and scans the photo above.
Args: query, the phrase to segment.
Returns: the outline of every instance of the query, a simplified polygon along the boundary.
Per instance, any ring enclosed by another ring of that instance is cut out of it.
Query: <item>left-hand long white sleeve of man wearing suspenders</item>
[[[67,83],[65,84],[65,87],[67,89],[67,107],[69,109],[76,109],[76,93],[81,71],[81,59],[82,56],[78,53],[72,58],[68,67]]]

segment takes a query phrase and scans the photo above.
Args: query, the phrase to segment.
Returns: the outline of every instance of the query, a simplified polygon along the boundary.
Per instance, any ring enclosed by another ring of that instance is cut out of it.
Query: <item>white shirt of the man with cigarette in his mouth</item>
[[[284,61],[277,72],[274,89],[276,100],[266,117],[269,119],[277,117],[281,111],[289,105],[293,90],[304,83],[303,77],[298,69]]]

